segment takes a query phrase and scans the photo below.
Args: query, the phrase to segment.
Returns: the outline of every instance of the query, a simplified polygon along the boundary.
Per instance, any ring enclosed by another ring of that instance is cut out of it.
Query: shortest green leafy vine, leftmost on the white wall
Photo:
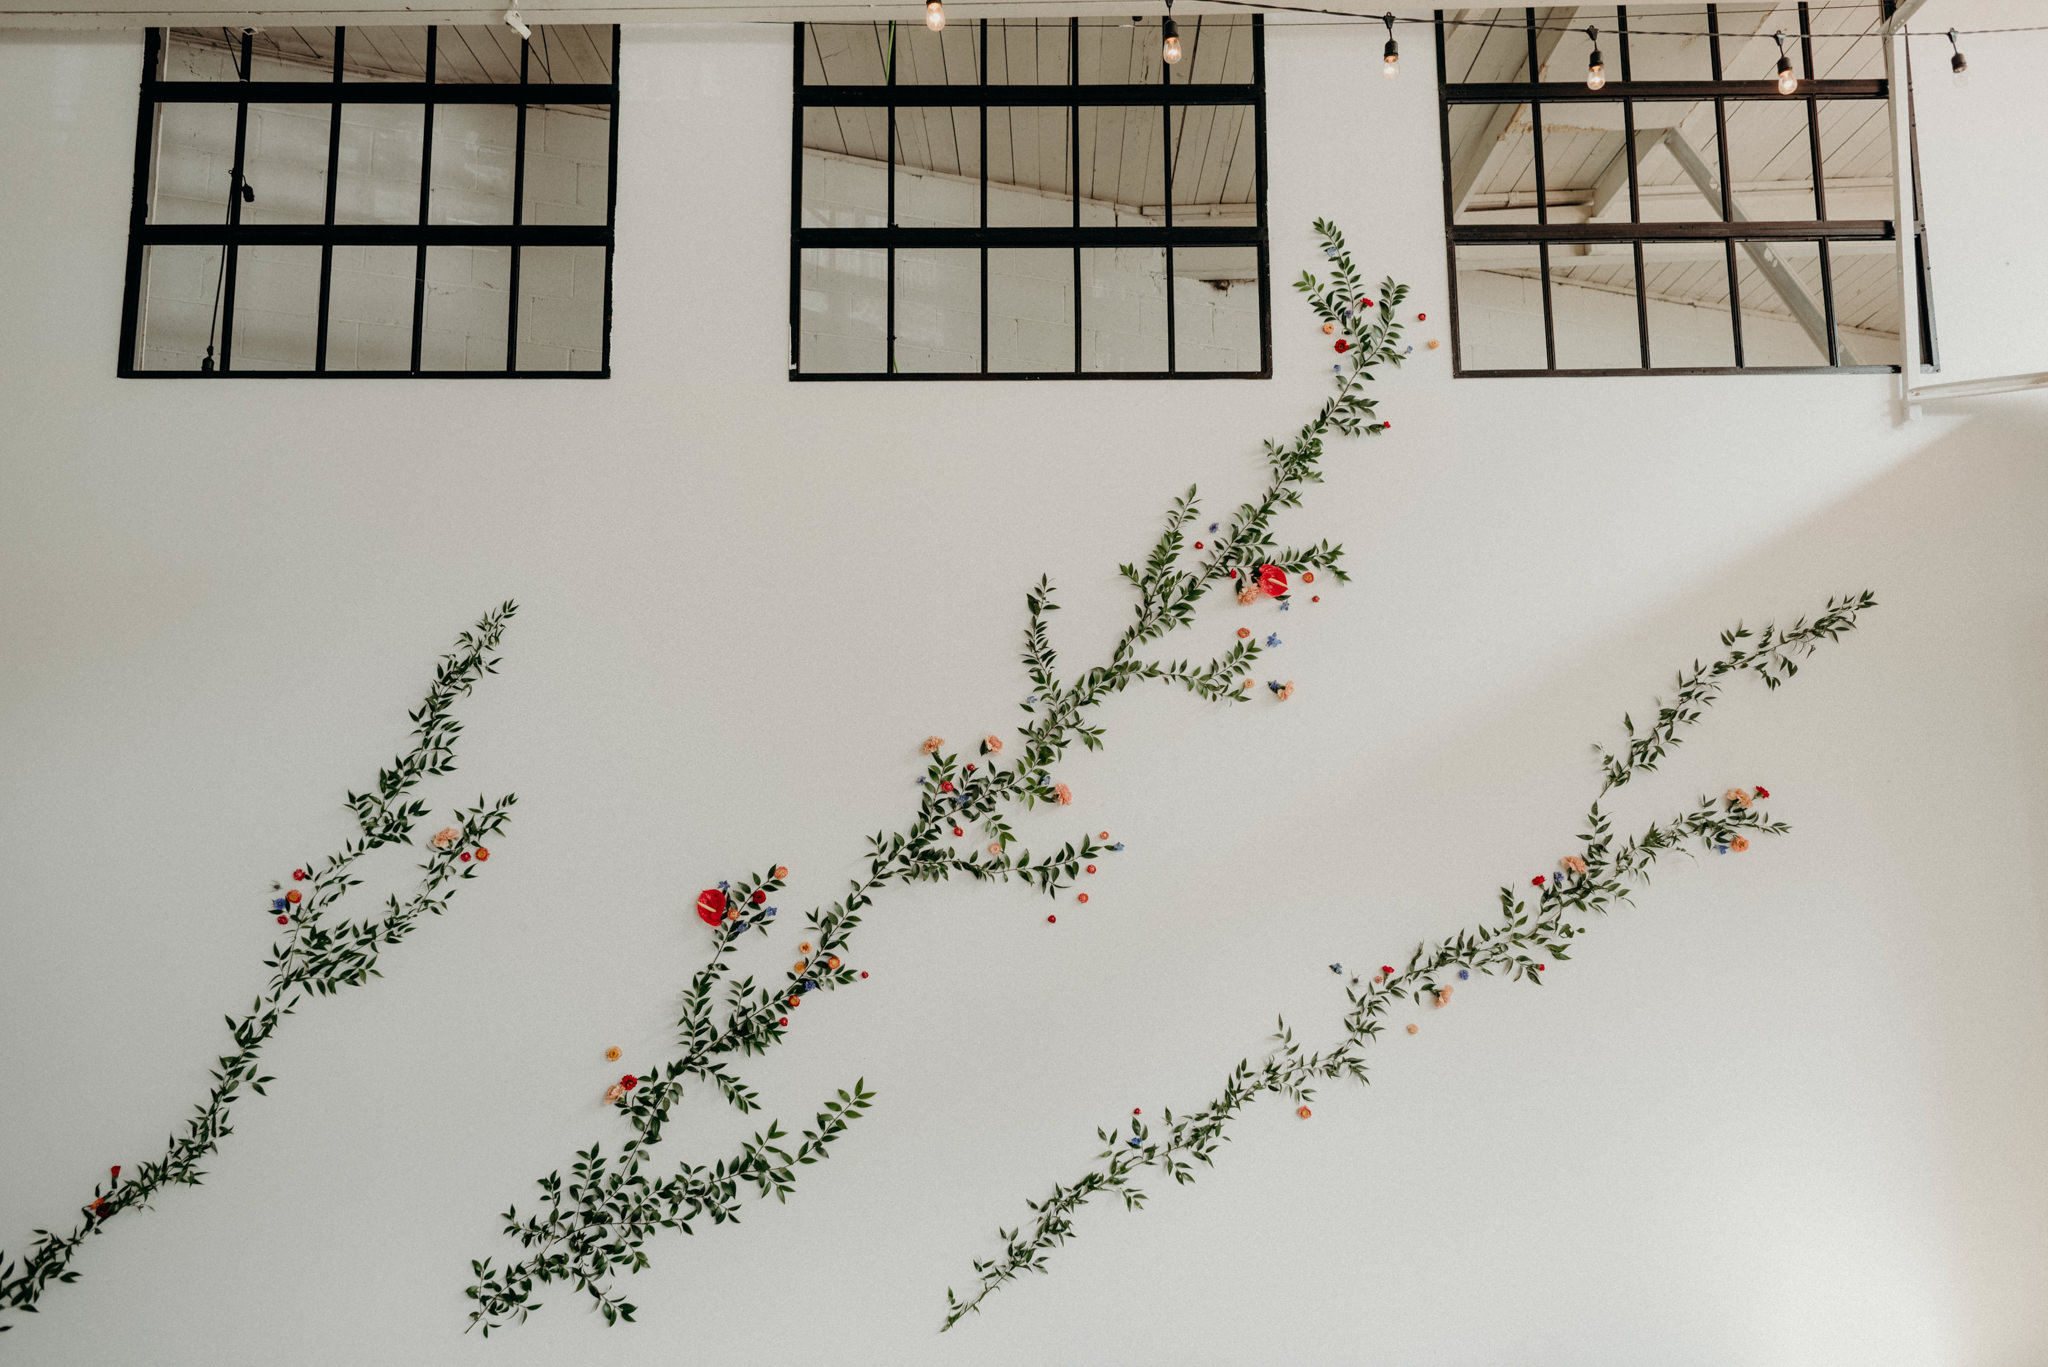
[[[0,1252],[0,1316],[37,1314],[51,1285],[78,1281],[72,1258],[115,1215],[150,1209],[154,1197],[168,1187],[199,1187],[205,1178],[199,1164],[233,1133],[229,1113],[242,1099],[242,1088],[262,1096],[274,1082],[258,1070],[258,1055],[285,1017],[295,1014],[309,996],[332,996],[379,978],[383,951],[412,935],[424,916],[446,912],[461,883],[477,875],[481,859],[489,855],[483,840],[510,820],[516,801],[512,793],[498,801],[477,797],[473,807],[457,812],[453,826],[428,840],[428,859],[420,865],[420,883],[412,896],[391,896],[381,916],[344,920],[332,914],[348,889],[362,881],[354,875],[356,861],[381,846],[412,840],[414,826],[428,814],[426,803],[412,795],[420,781],[455,771],[455,742],[463,732],[453,715],[455,701],[496,672],[492,652],[516,611],[514,603],[504,603],[463,631],[455,650],[440,658],[426,699],[412,713],[412,748],[377,775],[371,791],[348,793],[360,836],[326,859],[295,869],[289,889],[274,885],[281,896],[272,898],[270,912],[287,928],[264,959],[264,967],[272,969],[270,982],[246,1014],[225,1017],[233,1049],[215,1060],[213,1086],[186,1119],[184,1131],[166,1140],[162,1158],[135,1164],[127,1178],[119,1166],[113,1168],[106,1180],[94,1185],[92,1199],[70,1230],[35,1230],[35,1242],[18,1260]],[[14,1326],[0,1318],[0,1332],[8,1328]]]

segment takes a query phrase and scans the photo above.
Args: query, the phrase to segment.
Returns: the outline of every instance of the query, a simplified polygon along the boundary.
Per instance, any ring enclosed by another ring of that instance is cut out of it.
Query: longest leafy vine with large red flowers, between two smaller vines
[[[754,1197],[784,1201],[795,1187],[797,1168],[825,1158],[831,1144],[868,1109],[872,1092],[864,1082],[827,1099],[795,1148],[784,1146],[780,1123],[770,1123],[735,1154],[711,1164],[684,1162],[664,1174],[653,1170],[653,1148],[686,1090],[709,1084],[741,1113],[760,1107],[756,1092],[733,1068],[735,1060],[782,1043],[791,1031],[791,1012],[813,992],[858,980],[848,963],[852,937],[889,883],[944,881],[958,873],[977,881],[1018,879],[1057,896],[1075,883],[1083,867],[1092,867],[1087,861],[1120,851],[1120,844],[1102,844],[1106,834],[1081,834],[1059,851],[1032,859],[1028,851],[1012,851],[1016,832],[1008,814],[1069,799],[1065,785],[1055,783],[1055,767],[1075,744],[1102,748],[1104,728],[1094,719],[1096,709],[1135,682],[1174,685],[1204,701],[1231,703],[1247,697],[1251,678],[1245,670],[1262,654],[1255,637],[1239,639],[1204,664],[1151,654],[1165,635],[1194,623],[1196,609],[1210,590],[1225,588],[1247,598],[1266,592],[1280,596],[1284,605],[1284,574],[1321,570],[1346,580],[1341,545],[1280,545],[1272,523],[1282,510],[1298,508],[1311,484],[1321,484],[1327,434],[1384,430],[1366,383],[1372,381],[1372,367],[1401,365],[1397,309],[1407,287],[1382,281],[1374,303],[1352,264],[1343,234],[1321,219],[1315,230],[1331,260],[1331,279],[1325,285],[1305,273],[1296,289],[1309,297],[1317,318],[1331,324],[1331,334],[1341,328],[1335,342],[1335,393],[1290,441],[1266,443],[1268,478],[1260,496],[1239,504],[1229,521],[1210,523],[1208,533],[1194,541],[1192,564],[1184,562],[1190,560],[1190,529],[1200,519],[1200,502],[1194,488],[1176,498],[1167,508],[1165,529],[1145,560],[1118,568],[1137,592],[1133,621],[1108,660],[1079,674],[1067,676],[1059,668],[1049,621],[1059,603],[1051,580],[1040,578],[1026,592],[1024,672],[1032,693],[1022,703],[1028,719],[1018,728],[1016,744],[1006,746],[1001,738],[989,736],[979,746],[979,758],[963,762],[958,752],[946,752],[936,738],[928,742],[932,758],[920,781],[915,814],[901,830],[868,838],[866,873],[852,881],[844,898],[811,910],[797,949],[801,957],[776,986],[756,984],[754,976],[735,980],[731,955],[745,933],[768,933],[776,918],[770,898],[782,892],[786,869],[774,865],[705,889],[698,912],[715,922],[713,953],[684,990],[678,1019],[682,1051],[653,1072],[623,1078],[612,1088],[612,1107],[633,1129],[616,1158],[592,1144],[575,1154],[567,1180],[559,1170],[539,1180],[539,1213],[522,1215],[518,1207],[504,1213],[504,1234],[518,1242],[524,1256],[504,1267],[492,1258],[471,1262],[475,1281],[465,1291],[473,1301],[471,1328],[481,1326],[489,1334],[494,1328],[522,1324],[541,1308],[535,1293],[547,1283],[569,1283],[588,1295],[606,1324],[633,1320],[635,1306],[616,1289],[614,1279],[647,1267],[645,1246],[655,1234],[694,1234],[700,1221],[737,1219],[750,1189]],[[1014,758],[999,758],[1006,752]],[[967,836],[969,826],[979,828],[977,840],[985,840],[985,848],[961,853],[952,844]]]

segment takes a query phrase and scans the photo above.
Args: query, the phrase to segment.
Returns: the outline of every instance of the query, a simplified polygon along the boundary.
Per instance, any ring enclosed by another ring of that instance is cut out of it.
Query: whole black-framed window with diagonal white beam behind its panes
[[[1880,6],[1559,14],[1436,12],[1454,373],[1898,371]]]

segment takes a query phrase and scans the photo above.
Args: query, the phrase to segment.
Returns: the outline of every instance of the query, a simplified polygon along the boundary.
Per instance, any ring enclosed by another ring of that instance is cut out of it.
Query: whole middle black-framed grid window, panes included
[[[797,25],[791,379],[1272,375],[1264,37]]]

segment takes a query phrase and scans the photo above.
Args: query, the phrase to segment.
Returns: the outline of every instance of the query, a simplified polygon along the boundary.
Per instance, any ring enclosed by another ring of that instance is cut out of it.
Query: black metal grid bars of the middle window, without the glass
[[[979,25],[981,80],[956,86],[899,86],[895,82],[895,27],[891,53],[885,57],[887,82],[881,86],[807,86],[805,25],[795,25],[795,64],[791,70],[791,180],[788,180],[788,377],[793,381],[961,381],[961,379],[1272,379],[1272,248],[1266,223],[1266,16],[1251,16],[1251,84],[1174,84],[1174,68],[1159,66],[1159,86],[1098,86],[1079,78],[1079,18],[1067,20],[1067,82],[1001,86],[989,84],[989,20]],[[1255,223],[1251,227],[1188,227],[1174,225],[1174,111],[1198,105],[1239,105],[1251,109]],[[887,227],[805,227],[803,225],[803,111],[805,109],[887,109],[889,111],[889,213]],[[895,225],[895,111],[905,107],[979,109],[981,125],[981,227],[897,227]],[[989,227],[989,109],[1044,107],[1067,111],[1069,170],[1073,172],[1073,223],[1069,227]],[[1161,227],[1083,227],[1081,225],[1081,109],[1083,107],[1157,107],[1161,113],[1161,162],[1165,166],[1165,225]],[[895,369],[895,254],[897,248],[979,248],[981,252],[981,369],[975,371],[897,371]],[[1165,369],[1163,371],[1085,371],[1081,369],[1083,248],[1165,248]],[[1174,320],[1174,248],[1176,246],[1245,246],[1257,250],[1260,287],[1260,369],[1255,371],[1184,371],[1176,355]],[[887,250],[887,324],[881,371],[805,371],[803,369],[803,254],[823,248]],[[1071,248],[1073,250],[1073,369],[1071,371],[991,371],[989,369],[989,250],[991,248]]]

